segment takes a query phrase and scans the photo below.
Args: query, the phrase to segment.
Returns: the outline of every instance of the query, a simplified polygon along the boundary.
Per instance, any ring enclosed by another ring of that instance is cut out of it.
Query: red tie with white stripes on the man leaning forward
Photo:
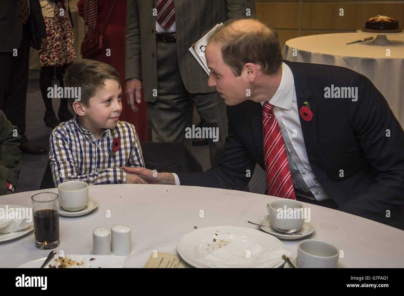
[[[282,133],[272,113],[274,105],[265,102],[262,107],[263,143],[268,195],[296,199]]]

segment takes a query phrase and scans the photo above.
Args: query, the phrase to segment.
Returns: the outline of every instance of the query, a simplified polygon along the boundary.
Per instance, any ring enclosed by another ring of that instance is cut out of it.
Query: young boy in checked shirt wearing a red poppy
[[[95,60],[74,62],[63,83],[76,115],[50,134],[50,167],[55,187],[71,180],[88,184],[143,183],[122,166],[143,167],[135,126],[119,121],[122,90],[118,72]],[[78,89],[80,87],[80,89]],[[74,90],[74,91],[72,91]],[[66,92],[64,92],[66,93]]]

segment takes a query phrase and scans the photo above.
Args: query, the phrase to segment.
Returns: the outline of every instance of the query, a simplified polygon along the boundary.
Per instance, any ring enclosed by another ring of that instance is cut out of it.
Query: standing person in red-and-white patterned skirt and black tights
[[[59,111],[56,118],[53,111],[52,98],[48,97],[48,87],[53,87],[52,79],[55,75],[63,87],[63,74],[69,63],[76,59],[72,23],[69,18],[67,0],[51,1],[40,0],[42,15],[46,26],[48,50],[40,55],[41,72],[39,86],[42,99],[45,103],[44,122],[46,126],[55,128],[60,122],[73,118],[73,114],[67,108],[67,99],[60,99]]]

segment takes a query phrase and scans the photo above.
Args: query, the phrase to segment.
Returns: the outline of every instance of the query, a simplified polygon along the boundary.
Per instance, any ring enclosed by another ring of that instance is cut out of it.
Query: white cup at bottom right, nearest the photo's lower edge
[[[297,246],[298,268],[337,268],[339,252],[322,240],[303,240]]]

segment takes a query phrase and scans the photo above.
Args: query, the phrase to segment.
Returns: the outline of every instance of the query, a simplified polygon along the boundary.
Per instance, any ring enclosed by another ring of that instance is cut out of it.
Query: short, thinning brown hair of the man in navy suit
[[[230,19],[210,34],[208,42],[222,46],[223,61],[236,77],[246,63],[259,64],[267,75],[282,65],[278,33],[256,19]]]

